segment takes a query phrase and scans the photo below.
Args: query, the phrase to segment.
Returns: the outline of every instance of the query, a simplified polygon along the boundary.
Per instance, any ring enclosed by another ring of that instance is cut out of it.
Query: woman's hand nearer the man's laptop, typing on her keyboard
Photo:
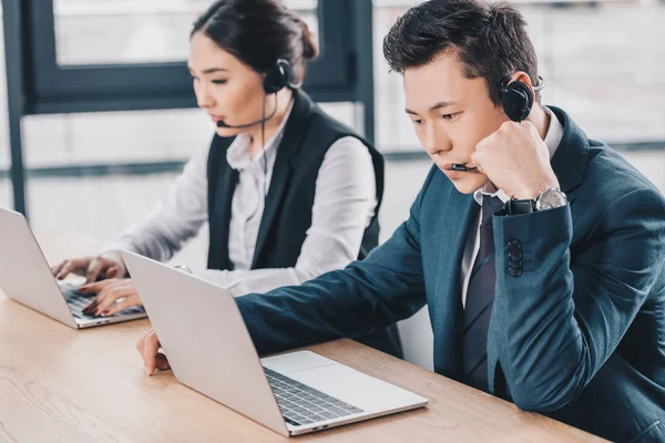
[[[84,285],[79,291],[96,293],[94,300],[83,309],[83,313],[92,316],[113,316],[133,306],[143,305],[139,298],[139,292],[136,292],[134,281],[129,278],[112,278]]]

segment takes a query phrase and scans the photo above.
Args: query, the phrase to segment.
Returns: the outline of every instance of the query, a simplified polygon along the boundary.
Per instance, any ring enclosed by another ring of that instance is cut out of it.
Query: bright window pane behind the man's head
[[[381,40],[413,0],[375,0],[377,145],[420,151],[403,113],[401,78],[388,73]],[[546,79],[543,103],[563,107],[589,136],[611,145],[665,143],[665,3],[514,2],[525,16]]]

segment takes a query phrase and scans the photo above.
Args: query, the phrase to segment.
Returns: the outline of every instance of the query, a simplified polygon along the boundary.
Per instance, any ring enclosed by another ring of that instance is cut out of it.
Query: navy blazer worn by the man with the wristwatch
[[[563,125],[552,167],[569,205],[494,216],[490,391],[613,441],[665,441],[665,198],[552,110]],[[461,380],[460,266],[479,209],[432,167],[409,219],[368,258],[237,299],[258,351],[370,332],[427,305],[434,370]]]

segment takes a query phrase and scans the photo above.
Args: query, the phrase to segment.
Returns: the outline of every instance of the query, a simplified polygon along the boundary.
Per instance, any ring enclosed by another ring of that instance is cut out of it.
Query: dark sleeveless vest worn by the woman
[[[307,230],[311,226],[316,181],[324,157],[336,141],[346,136],[356,137],[367,146],[376,177],[378,203],[375,216],[365,229],[358,258],[364,259],[378,245],[378,213],[383,197],[381,154],[352,130],[325,114],[305,92],[297,91],[284,137],[277,150],[252,269],[289,268],[296,265]],[[233,141],[234,137],[215,135],[208,154],[208,269],[233,269],[228,258],[228,233],[231,204],[238,182],[238,172],[226,161],[226,151]],[[395,327],[358,340],[391,354],[401,356]]]

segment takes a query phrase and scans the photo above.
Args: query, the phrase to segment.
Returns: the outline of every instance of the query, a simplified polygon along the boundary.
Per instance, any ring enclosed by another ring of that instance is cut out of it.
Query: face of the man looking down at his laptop
[[[508,120],[490,100],[484,79],[464,78],[457,56],[441,54],[423,66],[406,70],[403,86],[407,114],[437,166],[460,193],[484,186],[484,174],[450,169],[453,163],[474,166],[475,145]]]

